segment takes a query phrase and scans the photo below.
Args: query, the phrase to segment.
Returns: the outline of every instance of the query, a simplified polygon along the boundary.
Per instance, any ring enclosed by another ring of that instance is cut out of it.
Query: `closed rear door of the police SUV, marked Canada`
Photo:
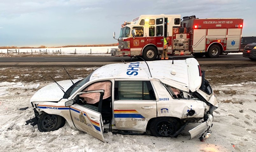
[[[114,120],[119,130],[146,131],[156,117],[156,98],[150,80],[116,79]]]

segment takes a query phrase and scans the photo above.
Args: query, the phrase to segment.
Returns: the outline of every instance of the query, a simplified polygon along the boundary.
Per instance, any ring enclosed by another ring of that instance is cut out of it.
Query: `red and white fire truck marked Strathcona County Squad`
[[[169,37],[169,56],[189,55],[217,58],[222,53],[241,52],[243,19],[206,18],[181,15],[141,15],[121,25],[118,49],[112,56],[142,56],[155,60],[162,53],[164,38]]]

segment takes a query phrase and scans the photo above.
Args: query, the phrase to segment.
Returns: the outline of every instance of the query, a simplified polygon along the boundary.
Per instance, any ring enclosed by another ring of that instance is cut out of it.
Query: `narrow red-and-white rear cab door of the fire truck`
[[[156,47],[158,50],[164,47],[164,17],[156,18]]]

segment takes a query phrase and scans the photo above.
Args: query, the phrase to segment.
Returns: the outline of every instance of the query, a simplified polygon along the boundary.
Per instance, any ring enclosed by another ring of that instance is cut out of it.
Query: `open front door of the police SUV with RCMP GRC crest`
[[[101,107],[104,90],[85,91],[77,93],[75,104],[70,106],[69,111],[75,127],[104,142],[103,121]],[[87,103],[84,99],[96,99],[96,103]]]

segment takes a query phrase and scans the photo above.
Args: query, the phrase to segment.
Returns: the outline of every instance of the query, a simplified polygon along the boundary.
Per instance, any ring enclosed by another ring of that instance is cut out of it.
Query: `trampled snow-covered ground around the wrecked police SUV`
[[[212,135],[205,142],[200,142],[199,136],[189,140],[187,131],[195,124],[185,128],[177,138],[104,133],[105,143],[71,129],[67,123],[52,132],[39,132],[37,126],[25,125],[34,115],[30,98],[47,84],[0,82],[1,152],[253,152],[256,149],[256,82],[213,85],[213,90],[218,90],[219,108],[214,112]],[[24,107],[29,108],[19,110]]]

